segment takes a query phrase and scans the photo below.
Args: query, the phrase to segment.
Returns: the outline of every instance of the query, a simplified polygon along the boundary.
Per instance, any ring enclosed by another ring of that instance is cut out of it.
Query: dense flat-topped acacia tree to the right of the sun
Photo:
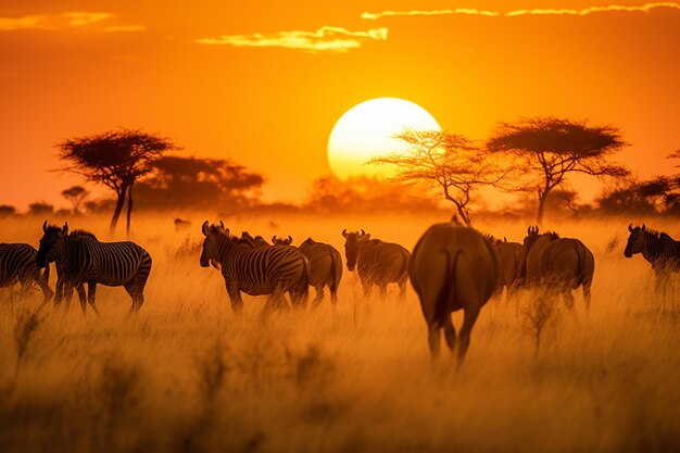
[[[589,126],[556,117],[501,123],[487,141],[492,152],[511,153],[519,159],[527,180],[520,190],[537,190],[537,223],[543,223],[545,200],[557,187],[565,187],[571,173],[620,178],[630,172],[608,161],[626,143],[621,131],[610,126]]]

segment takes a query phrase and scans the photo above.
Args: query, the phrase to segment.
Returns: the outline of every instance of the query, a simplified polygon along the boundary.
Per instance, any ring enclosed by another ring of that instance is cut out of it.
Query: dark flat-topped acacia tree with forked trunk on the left
[[[64,172],[102,184],[116,194],[110,231],[118,223],[127,199],[127,234],[133,213],[133,186],[152,172],[152,164],[164,152],[176,150],[169,139],[139,129],[119,128],[88,137],[76,137],[56,144],[58,156],[66,162]]]

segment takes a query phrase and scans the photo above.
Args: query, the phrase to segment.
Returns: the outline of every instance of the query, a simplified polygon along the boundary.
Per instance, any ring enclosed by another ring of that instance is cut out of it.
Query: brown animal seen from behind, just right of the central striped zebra
[[[292,246],[293,238],[282,239],[277,236],[272,238],[275,246]],[[335,247],[316,242],[307,238],[298,247],[298,250],[310,261],[310,286],[316,290],[316,297],[312,301],[312,309],[316,309],[324,300],[324,288],[330,290],[330,302],[333,309],[338,303],[338,287],[342,279],[342,257]]]

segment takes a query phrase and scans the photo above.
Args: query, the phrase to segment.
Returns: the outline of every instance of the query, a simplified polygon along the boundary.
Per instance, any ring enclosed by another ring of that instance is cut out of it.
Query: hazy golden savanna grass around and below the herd
[[[336,311],[326,300],[263,324],[263,298],[245,297],[235,317],[219,273],[199,267],[204,218],[192,216],[186,231],[169,216],[135,219],[133,239],[154,260],[135,317],[125,317],[122,288],[99,287],[100,317],[83,316],[77,298],[66,314],[50,305],[34,316],[37,290],[28,300],[3,290],[1,452],[680,450],[678,316],[654,294],[648,263],[624,257],[627,219],[549,225],[595,254],[590,314],[580,290],[576,316],[556,303],[537,352],[536,294],[491,301],[464,367],[432,372],[412,289],[404,303],[396,288],[367,300],[347,268]],[[311,235],[340,251],[342,228],[413,249],[444,219],[275,221],[225,218],[238,234],[290,234],[294,243]],[[41,223],[4,219],[0,238],[37,247]],[[647,224],[680,236],[670,223]],[[105,218],[70,225],[106,238]],[[508,240],[526,231],[525,223],[477,226]]]

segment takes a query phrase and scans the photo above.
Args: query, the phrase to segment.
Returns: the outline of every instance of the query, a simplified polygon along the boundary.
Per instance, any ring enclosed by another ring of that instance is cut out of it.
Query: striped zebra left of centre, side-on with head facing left
[[[292,247],[273,246],[253,248],[242,239],[229,236],[221,223],[202,226],[203,251],[201,267],[222,269],[234,313],[243,310],[241,291],[250,295],[268,294],[262,314],[285,306],[285,293],[290,294],[293,307],[304,307],[307,301],[310,263]]]

